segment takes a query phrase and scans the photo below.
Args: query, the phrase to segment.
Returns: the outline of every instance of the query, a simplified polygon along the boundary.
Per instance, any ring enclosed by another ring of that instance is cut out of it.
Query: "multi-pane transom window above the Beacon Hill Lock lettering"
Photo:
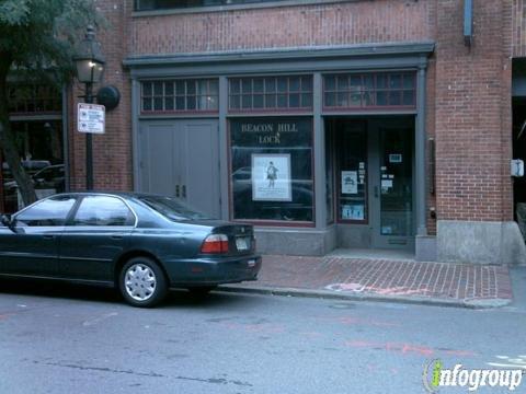
[[[228,82],[230,113],[312,108],[311,76],[231,78]]]

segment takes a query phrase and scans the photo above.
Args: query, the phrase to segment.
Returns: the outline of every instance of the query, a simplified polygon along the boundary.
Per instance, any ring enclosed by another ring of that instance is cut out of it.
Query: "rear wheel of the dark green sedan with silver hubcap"
[[[118,283],[124,299],[134,306],[155,306],[168,292],[164,273],[148,257],[128,260],[121,270]]]

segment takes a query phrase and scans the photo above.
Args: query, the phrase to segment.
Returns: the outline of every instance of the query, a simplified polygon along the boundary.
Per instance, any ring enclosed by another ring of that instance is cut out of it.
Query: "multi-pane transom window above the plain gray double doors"
[[[145,81],[140,90],[142,114],[217,113],[217,79]]]

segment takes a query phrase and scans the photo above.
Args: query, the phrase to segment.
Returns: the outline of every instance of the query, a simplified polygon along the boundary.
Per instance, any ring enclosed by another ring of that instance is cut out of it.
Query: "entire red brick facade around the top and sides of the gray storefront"
[[[132,0],[99,1],[112,27],[99,37],[105,83],[122,92],[95,136],[95,187],[133,187],[129,55],[433,39],[426,128],[436,140],[438,219],[511,220],[511,55],[526,53],[526,0],[474,1],[474,42],[462,38],[462,0],[376,0],[132,18]],[[523,37],[525,39],[523,39]],[[73,185],[83,185],[83,137],[72,132]],[[427,221],[431,233],[435,221]]]

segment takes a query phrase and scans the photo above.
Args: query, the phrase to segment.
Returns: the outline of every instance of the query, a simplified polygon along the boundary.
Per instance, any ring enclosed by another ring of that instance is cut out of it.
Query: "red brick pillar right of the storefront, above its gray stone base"
[[[437,2],[438,219],[511,220],[508,1],[474,2],[474,43],[462,43],[462,2]]]

